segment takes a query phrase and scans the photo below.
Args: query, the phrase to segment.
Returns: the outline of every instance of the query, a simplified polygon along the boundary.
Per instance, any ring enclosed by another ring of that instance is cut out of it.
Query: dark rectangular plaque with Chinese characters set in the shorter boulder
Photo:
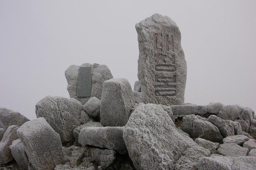
[[[77,79],[77,97],[84,98],[91,96],[92,88],[92,67],[79,67]]]

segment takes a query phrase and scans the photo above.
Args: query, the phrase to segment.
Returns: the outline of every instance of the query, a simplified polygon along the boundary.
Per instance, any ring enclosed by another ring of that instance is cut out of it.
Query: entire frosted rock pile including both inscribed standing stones
[[[37,119],[0,107],[0,169],[255,169],[254,111],[184,103],[179,28],[154,14],[136,30],[134,90],[107,66],[86,63],[65,72],[70,98],[41,99]]]

